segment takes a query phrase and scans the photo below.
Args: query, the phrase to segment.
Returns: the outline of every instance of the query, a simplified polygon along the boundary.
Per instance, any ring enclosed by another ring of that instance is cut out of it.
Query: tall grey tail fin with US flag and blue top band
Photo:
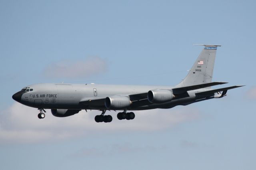
[[[195,44],[201,45],[201,44]],[[212,73],[217,47],[221,45],[204,45],[204,49],[196,59],[185,79],[177,87],[198,85],[212,82]]]

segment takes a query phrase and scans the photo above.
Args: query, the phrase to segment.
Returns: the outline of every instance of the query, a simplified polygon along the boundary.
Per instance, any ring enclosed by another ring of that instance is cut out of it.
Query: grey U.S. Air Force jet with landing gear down
[[[202,44],[196,44],[202,45]],[[51,109],[56,117],[68,117],[84,110],[99,110],[96,122],[111,122],[112,116],[106,111],[121,110],[119,120],[134,119],[135,114],[127,111],[148,109],[170,109],[177,105],[189,105],[226,96],[231,86],[211,89],[211,86],[226,82],[212,82],[212,73],[217,47],[220,45],[203,45],[200,55],[185,79],[171,87],[138,85],[100,85],[100,84],[66,84],[40,83],[22,88],[12,98],[23,105],[38,108],[39,119],[45,117],[44,109]],[[222,93],[221,93],[222,92]]]

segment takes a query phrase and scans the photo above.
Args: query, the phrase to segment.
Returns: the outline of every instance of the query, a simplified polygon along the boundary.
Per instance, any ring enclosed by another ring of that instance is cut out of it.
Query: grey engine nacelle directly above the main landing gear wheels
[[[130,106],[132,102],[126,96],[106,97],[105,106],[107,109],[124,109]]]

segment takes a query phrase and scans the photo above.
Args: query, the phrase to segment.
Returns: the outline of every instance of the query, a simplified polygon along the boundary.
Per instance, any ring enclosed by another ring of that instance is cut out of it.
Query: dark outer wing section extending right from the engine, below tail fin
[[[205,87],[211,87],[211,86],[214,86],[214,85],[222,85],[222,84],[226,84],[226,83],[227,82],[211,82],[211,83],[191,85],[191,86],[186,86],[186,87],[178,87],[178,88],[172,89],[172,92],[174,94],[179,94],[179,93],[184,93],[184,92],[190,91],[190,90],[202,89],[202,88],[205,88]]]

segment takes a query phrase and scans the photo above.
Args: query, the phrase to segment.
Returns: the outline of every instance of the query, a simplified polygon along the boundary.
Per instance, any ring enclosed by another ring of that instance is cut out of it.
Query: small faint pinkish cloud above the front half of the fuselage
[[[100,57],[87,57],[82,61],[60,61],[52,63],[44,69],[47,77],[90,77],[91,75],[105,72],[106,60]]]

